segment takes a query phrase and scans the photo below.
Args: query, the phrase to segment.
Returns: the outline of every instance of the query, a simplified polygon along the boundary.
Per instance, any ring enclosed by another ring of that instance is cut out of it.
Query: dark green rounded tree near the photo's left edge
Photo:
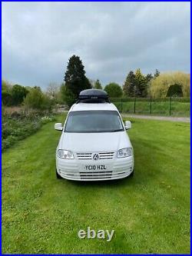
[[[28,90],[22,85],[13,85],[12,87],[12,104],[20,105],[28,94]]]

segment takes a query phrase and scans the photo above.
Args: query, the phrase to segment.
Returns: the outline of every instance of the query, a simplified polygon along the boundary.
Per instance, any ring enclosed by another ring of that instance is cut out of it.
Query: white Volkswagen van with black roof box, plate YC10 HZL
[[[57,178],[101,181],[134,175],[134,151],[121,119],[105,91],[81,91],[71,106],[56,149]]]

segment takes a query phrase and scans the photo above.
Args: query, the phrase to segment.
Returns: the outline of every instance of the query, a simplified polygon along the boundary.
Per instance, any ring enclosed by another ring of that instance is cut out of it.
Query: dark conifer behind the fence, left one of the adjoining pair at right
[[[135,83],[134,71],[130,71],[123,85],[124,95],[128,97],[134,97],[135,89],[136,89],[136,83]]]

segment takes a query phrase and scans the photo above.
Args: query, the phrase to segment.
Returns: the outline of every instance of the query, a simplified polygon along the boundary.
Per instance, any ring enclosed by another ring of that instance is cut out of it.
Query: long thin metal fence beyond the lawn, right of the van
[[[111,98],[120,112],[190,116],[190,98]]]

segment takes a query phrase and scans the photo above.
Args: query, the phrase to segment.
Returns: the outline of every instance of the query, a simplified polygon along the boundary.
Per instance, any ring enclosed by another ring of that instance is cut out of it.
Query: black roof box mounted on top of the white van
[[[109,102],[108,94],[106,91],[98,89],[88,89],[81,91],[78,96],[78,102],[84,103],[104,103]]]

